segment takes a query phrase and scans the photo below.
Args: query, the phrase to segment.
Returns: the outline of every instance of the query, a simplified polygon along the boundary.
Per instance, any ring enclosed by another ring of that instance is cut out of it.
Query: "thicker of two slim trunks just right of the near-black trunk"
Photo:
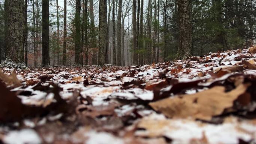
[[[63,57],[62,64],[66,64],[66,46],[67,46],[67,0],[64,0],[64,28],[63,28]]]

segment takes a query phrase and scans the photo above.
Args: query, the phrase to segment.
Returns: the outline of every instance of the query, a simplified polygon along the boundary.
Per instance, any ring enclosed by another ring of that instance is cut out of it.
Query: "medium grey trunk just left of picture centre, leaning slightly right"
[[[117,23],[117,61],[118,66],[122,66],[121,59],[121,13],[122,13],[122,0],[118,3],[118,23]]]

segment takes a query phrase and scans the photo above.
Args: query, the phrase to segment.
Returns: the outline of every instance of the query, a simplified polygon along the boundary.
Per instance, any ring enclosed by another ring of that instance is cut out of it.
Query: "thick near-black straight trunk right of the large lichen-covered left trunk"
[[[42,66],[49,65],[49,0],[42,0]]]

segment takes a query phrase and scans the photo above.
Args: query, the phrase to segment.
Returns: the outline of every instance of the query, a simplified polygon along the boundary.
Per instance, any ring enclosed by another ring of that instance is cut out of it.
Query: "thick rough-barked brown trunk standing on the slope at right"
[[[180,59],[191,56],[192,48],[192,5],[191,0],[178,0],[179,11],[179,49]]]

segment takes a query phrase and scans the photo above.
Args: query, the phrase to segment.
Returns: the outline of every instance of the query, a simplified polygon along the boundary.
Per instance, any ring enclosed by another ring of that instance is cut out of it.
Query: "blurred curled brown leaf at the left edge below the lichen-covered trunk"
[[[7,76],[2,72],[0,68],[0,79],[3,80],[3,82],[5,82],[6,85],[8,86],[14,86],[14,87],[21,86],[21,82],[18,80],[15,70],[12,71],[12,74],[10,76]]]

